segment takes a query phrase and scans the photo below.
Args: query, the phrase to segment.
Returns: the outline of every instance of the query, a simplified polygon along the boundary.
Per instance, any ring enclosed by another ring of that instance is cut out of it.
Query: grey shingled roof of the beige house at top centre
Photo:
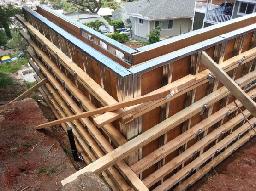
[[[193,17],[195,0],[138,0],[122,6],[128,15],[139,14],[149,20]]]

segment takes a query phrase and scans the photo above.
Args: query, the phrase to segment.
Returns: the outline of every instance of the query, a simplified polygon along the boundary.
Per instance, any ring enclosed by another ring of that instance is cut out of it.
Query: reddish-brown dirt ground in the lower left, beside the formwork
[[[0,190],[60,190],[60,181],[76,172],[53,131],[34,130],[47,122],[33,99],[0,106]],[[50,149],[52,147],[52,149]]]

